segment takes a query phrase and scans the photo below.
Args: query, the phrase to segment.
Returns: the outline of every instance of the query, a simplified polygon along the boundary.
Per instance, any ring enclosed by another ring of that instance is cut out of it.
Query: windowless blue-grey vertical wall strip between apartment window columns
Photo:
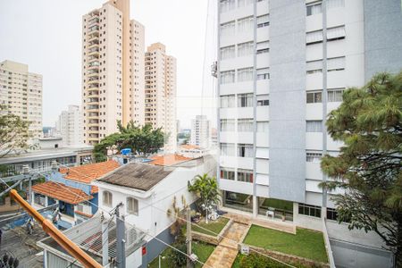
[[[269,194],[272,198],[304,202],[306,4],[272,0],[270,17]]]

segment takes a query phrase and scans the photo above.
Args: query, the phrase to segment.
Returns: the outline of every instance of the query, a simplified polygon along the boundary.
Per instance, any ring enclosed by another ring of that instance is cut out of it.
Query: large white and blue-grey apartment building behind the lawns
[[[377,235],[334,221],[338,192],[319,187],[331,180],[320,159],[339,153],[325,120],[343,90],[401,69],[400,1],[221,0],[217,8],[223,206],[265,219],[284,211],[315,230],[325,218],[337,265],[389,267]],[[276,199],[284,206],[275,209]]]

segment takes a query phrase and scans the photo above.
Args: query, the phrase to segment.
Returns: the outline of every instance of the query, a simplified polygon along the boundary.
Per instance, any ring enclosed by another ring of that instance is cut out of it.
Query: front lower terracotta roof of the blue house
[[[88,196],[79,188],[72,188],[65,185],[62,186],[61,183],[55,183],[53,181],[36,184],[32,186],[32,191],[72,205],[77,205],[93,198],[92,196]]]

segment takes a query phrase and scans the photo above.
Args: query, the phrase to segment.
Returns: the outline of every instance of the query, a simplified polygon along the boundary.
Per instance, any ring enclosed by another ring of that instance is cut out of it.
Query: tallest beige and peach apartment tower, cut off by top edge
[[[82,118],[86,144],[144,124],[144,26],[130,0],[110,0],[82,18]]]

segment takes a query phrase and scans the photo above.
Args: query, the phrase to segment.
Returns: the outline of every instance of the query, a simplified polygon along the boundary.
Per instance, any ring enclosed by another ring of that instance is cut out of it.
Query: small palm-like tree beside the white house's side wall
[[[207,173],[197,175],[192,184],[188,181],[188,191],[195,193],[199,197],[199,202],[206,207],[220,202],[218,183],[215,177],[210,177]]]

